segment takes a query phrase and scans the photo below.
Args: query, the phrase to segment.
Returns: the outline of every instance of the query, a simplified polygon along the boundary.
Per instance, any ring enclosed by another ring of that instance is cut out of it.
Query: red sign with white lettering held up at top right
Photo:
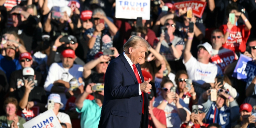
[[[199,0],[190,0],[184,2],[176,2],[173,4],[173,10],[184,9],[187,7],[191,7],[193,10],[193,14],[197,17],[202,17],[204,8],[206,6],[206,2],[202,2]]]

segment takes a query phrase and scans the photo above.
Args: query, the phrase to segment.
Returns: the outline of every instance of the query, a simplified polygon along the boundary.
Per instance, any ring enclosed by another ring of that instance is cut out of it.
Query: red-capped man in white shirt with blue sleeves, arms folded
[[[75,51],[71,48],[66,48],[61,52],[60,63],[53,63],[49,68],[46,81],[44,83],[44,89],[48,92],[58,93],[61,97],[61,102],[65,104],[67,98],[65,94],[68,94],[70,88],[69,81],[74,77],[79,79],[83,77],[83,66],[74,64]]]

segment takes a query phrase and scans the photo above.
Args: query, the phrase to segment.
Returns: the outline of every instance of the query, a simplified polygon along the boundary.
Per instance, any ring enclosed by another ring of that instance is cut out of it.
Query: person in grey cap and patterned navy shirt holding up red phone
[[[93,60],[98,52],[102,52],[102,49],[113,47],[111,37],[117,32],[116,26],[106,17],[101,8],[93,11],[93,24],[94,27],[85,31],[85,35],[89,38],[87,62]]]

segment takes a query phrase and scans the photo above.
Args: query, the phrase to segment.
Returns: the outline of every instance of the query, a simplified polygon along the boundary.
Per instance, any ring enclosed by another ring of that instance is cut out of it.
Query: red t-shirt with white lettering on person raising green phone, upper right
[[[244,27],[245,25],[233,26],[233,28],[230,30],[227,41],[222,46],[234,52],[245,52],[246,42],[250,35],[250,30],[245,31]],[[224,35],[227,28],[227,25],[222,25],[219,27],[219,29],[223,31]]]

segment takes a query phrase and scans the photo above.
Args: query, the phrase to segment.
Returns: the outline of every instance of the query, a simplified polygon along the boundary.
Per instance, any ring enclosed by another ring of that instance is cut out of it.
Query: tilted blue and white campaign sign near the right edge
[[[250,78],[255,74],[256,74],[256,65],[252,61],[252,58],[249,58],[241,54],[232,76],[237,78],[238,80],[247,82],[248,78]]]

